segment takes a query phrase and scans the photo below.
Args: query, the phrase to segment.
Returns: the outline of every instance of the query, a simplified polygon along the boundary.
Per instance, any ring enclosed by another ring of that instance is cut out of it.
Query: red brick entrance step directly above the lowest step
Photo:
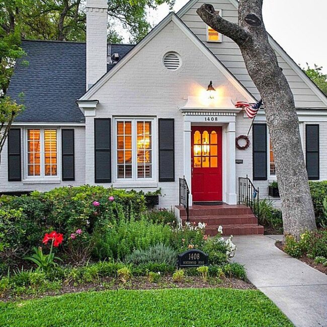
[[[182,221],[186,221],[186,217],[181,217]],[[191,223],[204,222],[207,225],[240,225],[240,224],[257,224],[258,219],[254,214],[248,215],[228,215],[228,216],[201,216],[201,217],[189,217]]]

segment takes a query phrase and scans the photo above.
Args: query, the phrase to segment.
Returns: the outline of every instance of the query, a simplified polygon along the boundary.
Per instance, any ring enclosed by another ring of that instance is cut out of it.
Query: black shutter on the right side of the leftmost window
[[[75,180],[75,160],[74,160],[74,130],[61,130],[61,161],[62,180]]]

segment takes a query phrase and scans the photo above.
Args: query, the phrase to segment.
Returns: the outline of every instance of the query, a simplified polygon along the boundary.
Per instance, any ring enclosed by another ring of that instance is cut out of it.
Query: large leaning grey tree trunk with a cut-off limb
[[[284,234],[297,238],[316,228],[308,176],[293,94],[262,20],[263,0],[240,0],[238,25],[222,19],[213,6],[202,5],[198,15],[216,31],[234,40],[264,102],[272,141]]]

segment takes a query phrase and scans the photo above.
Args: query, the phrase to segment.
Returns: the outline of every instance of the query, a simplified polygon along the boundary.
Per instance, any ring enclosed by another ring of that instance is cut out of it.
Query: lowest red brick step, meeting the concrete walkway
[[[221,226],[223,235],[255,235],[264,233],[264,227],[258,224],[238,224]],[[205,233],[210,236],[217,235],[218,226],[206,226]]]

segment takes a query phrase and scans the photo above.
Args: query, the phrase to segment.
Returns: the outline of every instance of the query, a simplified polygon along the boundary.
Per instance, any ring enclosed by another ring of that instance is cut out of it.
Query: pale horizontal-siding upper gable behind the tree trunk
[[[231,71],[240,83],[255,98],[259,99],[260,94],[247,72],[237,44],[225,35],[222,36],[222,43],[206,42],[206,24],[196,13],[197,8],[201,7],[204,3],[207,2],[205,0],[191,1],[178,13],[178,16]],[[237,23],[237,9],[234,0],[212,0],[210,4],[215,9],[222,10],[222,17],[224,19]],[[270,41],[277,53],[279,65],[283,68],[283,72],[292,89],[295,106],[297,108],[326,108],[327,99],[322,93],[299,71],[296,64],[272,38],[270,38]]]

